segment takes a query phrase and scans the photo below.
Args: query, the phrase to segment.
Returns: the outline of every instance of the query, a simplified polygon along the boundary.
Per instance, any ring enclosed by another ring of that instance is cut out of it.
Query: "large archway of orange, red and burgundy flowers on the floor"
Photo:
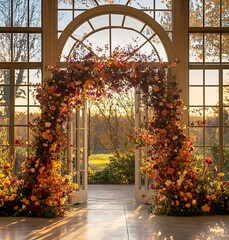
[[[67,195],[76,185],[70,176],[61,176],[61,153],[66,144],[66,125],[73,108],[81,108],[88,99],[107,96],[111,90],[128,91],[139,87],[153,116],[140,134],[131,136],[136,147],[147,147],[147,160],[141,169],[150,179],[156,194],[154,211],[158,214],[193,215],[225,211],[228,186],[218,174],[214,182],[206,170],[211,159],[205,159],[203,175],[192,155],[192,142],[181,124],[183,102],[170,66],[116,59],[94,59],[72,62],[67,69],[54,67],[52,76],[37,89],[41,115],[31,128],[34,132],[33,156],[22,164],[19,180],[4,171],[7,190],[1,190],[1,215],[54,217],[63,213]],[[215,184],[214,186],[211,184]],[[211,188],[210,188],[211,186]],[[5,214],[7,215],[7,214]]]

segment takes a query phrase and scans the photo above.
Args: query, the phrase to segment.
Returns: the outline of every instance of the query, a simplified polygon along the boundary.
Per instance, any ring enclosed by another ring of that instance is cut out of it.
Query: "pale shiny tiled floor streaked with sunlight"
[[[87,203],[63,218],[0,217],[1,240],[229,240],[229,216],[152,216],[133,186],[91,185]]]

